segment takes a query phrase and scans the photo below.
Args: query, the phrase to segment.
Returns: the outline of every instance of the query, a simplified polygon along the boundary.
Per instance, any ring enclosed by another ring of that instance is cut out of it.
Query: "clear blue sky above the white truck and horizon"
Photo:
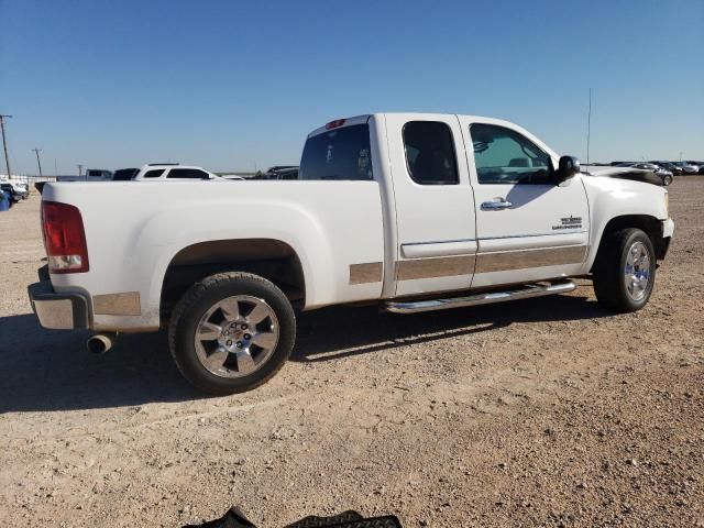
[[[374,111],[517,122],[592,161],[704,158],[704,0],[0,0],[13,172],[297,163]],[[0,172],[3,172],[0,169]]]

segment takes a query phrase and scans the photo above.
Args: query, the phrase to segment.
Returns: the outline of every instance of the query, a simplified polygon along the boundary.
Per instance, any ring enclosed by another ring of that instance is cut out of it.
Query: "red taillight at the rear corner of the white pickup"
[[[58,201],[42,201],[42,229],[50,272],[88,271],[86,232],[77,207]]]

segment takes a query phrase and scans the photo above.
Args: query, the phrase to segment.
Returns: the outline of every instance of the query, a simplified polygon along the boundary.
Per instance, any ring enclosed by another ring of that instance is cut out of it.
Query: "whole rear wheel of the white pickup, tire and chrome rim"
[[[195,284],[172,315],[168,342],[180,373],[200,391],[224,395],[267,382],[290,355],[296,317],[271,282],[221,273]]]

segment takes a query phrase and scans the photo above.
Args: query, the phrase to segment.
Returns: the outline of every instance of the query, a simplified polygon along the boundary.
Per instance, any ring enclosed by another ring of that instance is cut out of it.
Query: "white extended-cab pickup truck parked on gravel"
[[[216,394],[282,367],[297,310],[415,314],[565,293],[570,277],[638,310],[674,229],[667,190],[454,114],[332,121],[308,135],[299,180],[48,184],[42,199],[40,323],[91,329],[97,352],[168,329],[180,372]]]

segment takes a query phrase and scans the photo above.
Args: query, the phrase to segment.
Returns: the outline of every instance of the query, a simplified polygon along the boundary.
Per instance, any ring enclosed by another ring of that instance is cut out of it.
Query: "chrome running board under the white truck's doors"
[[[531,297],[544,297],[547,295],[566,294],[576,288],[572,280],[540,286],[529,284],[507,292],[491,292],[466,297],[450,297],[447,299],[426,299],[409,301],[387,301],[386,311],[394,314],[418,314],[421,311],[446,310],[448,308],[463,308],[465,306],[492,305],[514,299],[528,299]]]

